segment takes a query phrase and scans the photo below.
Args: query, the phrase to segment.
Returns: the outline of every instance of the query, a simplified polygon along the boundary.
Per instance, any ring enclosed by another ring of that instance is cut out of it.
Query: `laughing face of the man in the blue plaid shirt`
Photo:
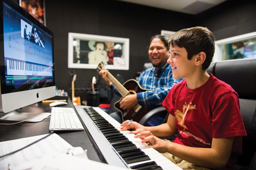
[[[149,59],[155,69],[162,67],[169,58],[169,52],[167,51],[164,42],[159,38],[155,38],[151,41],[149,46]]]

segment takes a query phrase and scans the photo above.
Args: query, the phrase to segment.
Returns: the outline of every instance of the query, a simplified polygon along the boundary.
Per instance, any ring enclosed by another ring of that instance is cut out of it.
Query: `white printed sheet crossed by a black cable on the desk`
[[[18,150],[46,135],[0,142],[0,155],[5,155],[7,153]],[[25,148],[13,155],[9,155],[0,159],[0,170],[6,170],[8,164],[13,167],[13,170],[30,169],[33,166],[33,162],[35,162],[33,160],[42,158],[47,152],[55,151],[66,154],[67,150],[70,148],[72,149],[74,155],[83,152],[83,149],[81,147],[72,147],[72,145],[70,145],[59,135],[54,133],[53,135],[50,135],[49,137],[29,146],[28,148]]]

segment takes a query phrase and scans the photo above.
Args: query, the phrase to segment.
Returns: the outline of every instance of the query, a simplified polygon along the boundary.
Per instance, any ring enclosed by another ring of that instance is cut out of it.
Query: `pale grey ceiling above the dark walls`
[[[196,15],[227,0],[120,0]]]

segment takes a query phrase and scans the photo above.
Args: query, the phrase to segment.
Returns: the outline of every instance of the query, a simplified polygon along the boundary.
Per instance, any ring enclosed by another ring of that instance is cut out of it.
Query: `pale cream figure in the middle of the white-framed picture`
[[[89,64],[99,64],[101,62],[107,63],[108,56],[105,49],[105,43],[104,42],[95,42],[95,41],[89,41],[88,45],[90,47],[91,52],[88,53],[88,63]],[[93,45],[92,45],[93,44]]]

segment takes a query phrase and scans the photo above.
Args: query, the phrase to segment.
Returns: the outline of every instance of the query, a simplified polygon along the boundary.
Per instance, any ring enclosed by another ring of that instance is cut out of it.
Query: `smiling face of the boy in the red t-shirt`
[[[171,64],[173,78],[185,78],[193,73],[193,60],[188,60],[188,52],[185,48],[170,46],[171,56],[167,63]]]

